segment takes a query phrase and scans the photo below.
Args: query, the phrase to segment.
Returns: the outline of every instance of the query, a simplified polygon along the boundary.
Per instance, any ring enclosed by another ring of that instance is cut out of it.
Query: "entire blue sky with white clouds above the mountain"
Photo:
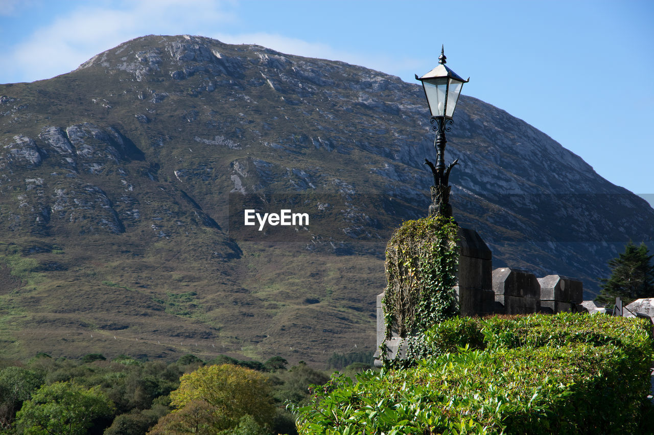
[[[464,94],[654,202],[651,0],[0,0],[0,83],[67,73],[148,34],[255,43],[407,82],[445,44],[448,65],[470,76]]]

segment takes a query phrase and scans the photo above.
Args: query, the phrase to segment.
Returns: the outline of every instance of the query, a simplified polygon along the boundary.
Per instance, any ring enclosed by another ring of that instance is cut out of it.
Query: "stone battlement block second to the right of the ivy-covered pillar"
[[[563,275],[547,275],[538,278],[540,283],[540,306],[543,313],[576,313],[587,311],[577,307],[583,302],[583,283]]]

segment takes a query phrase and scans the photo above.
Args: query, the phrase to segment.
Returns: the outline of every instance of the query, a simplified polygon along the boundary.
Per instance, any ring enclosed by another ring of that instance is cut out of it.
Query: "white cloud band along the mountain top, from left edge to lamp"
[[[3,2],[0,5],[7,10],[12,7],[25,10],[23,4],[16,6],[18,3],[13,0],[0,1]],[[49,24],[27,35],[21,43],[11,46],[9,52],[0,53],[0,58],[5,60],[5,67],[0,71],[0,82],[42,80],[64,74],[96,54],[148,34],[189,33],[214,37],[224,43],[258,44],[288,54],[364,65],[401,77],[407,77],[406,70],[421,65],[423,61],[339,50],[326,43],[307,42],[275,33],[216,32],[221,25],[238,24],[239,19],[247,19],[235,16],[235,5],[237,3],[232,0],[81,3],[73,10],[54,15]]]

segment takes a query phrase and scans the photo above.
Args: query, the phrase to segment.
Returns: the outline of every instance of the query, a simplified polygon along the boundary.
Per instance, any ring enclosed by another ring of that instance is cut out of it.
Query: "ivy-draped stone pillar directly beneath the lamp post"
[[[388,242],[385,269],[388,285],[377,296],[377,365],[410,358],[412,340],[448,317],[492,313],[490,249],[451,218],[404,222]]]

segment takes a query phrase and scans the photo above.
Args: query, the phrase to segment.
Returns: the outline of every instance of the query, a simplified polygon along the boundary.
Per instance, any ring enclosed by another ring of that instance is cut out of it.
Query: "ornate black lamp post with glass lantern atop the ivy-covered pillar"
[[[452,167],[458,163],[458,159],[445,168],[445,131],[450,131],[448,124],[453,124],[452,115],[458,102],[458,96],[464,80],[454,71],[445,66],[447,58],[441,46],[441,55],[438,56],[438,66],[422,77],[415,76],[416,80],[422,82],[424,95],[427,97],[429,110],[432,113],[430,122],[434,124],[432,130],[436,131],[434,148],[436,148],[436,165],[427,159],[424,164],[429,165],[434,173],[434,186],[432,186],[432,203],[429,206],[429,214],[452,217],[452,206],[449,204],[449,173]]]

